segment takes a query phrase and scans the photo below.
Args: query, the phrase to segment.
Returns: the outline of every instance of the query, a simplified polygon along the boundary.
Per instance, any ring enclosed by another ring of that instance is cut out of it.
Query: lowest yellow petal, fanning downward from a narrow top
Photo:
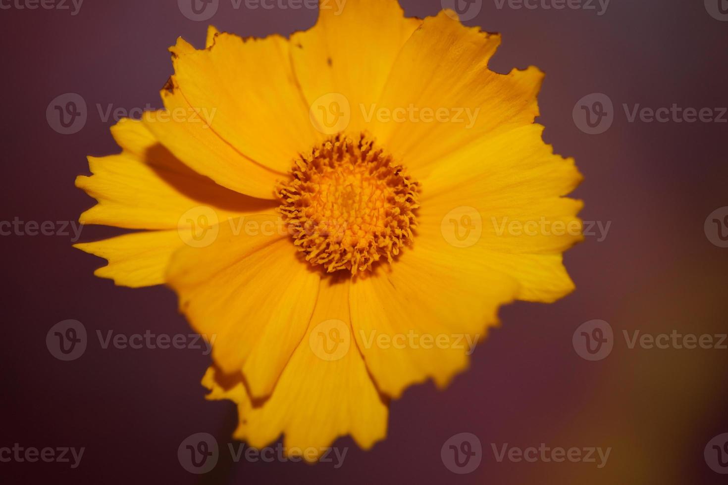
[[[387,405],[351,340],[348,286],[347,281],[321,281],[306,335],[266,401],[253,406],[239,378],[208,369],[202,380],[211,390],[208,398],[232,399],[239,406],[235,438],[260,448],[283,433],[286,454],[303,454],[310,461],[339,436],[350,434],[363,449],[384,438]],[[331,329],[341,331],[339,347],[325,340]]]

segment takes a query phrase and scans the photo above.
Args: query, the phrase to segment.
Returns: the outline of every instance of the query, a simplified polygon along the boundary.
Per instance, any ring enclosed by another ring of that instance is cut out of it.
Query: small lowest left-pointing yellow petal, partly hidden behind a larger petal
[[[143,231],[74,247],[108,260],[94,271],[96,276],[139,288],[164,283],[170,257],[182,245],[177,231]]]

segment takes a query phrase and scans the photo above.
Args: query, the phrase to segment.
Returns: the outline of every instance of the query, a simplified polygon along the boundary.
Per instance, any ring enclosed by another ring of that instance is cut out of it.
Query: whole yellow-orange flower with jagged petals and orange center
[[[82,223],[151,230],[77,244],[96,274],[175,289],[234,436],[289,454],[384,438],[389,399],[446,386],[500,305],[574,289],[561,253],[582,237],[537,68],[489,71],[500,37],[454,12],[337,13],[290,40],[178,40],[165,110],[116,124],[122,153],[76,180],[98,199]]]

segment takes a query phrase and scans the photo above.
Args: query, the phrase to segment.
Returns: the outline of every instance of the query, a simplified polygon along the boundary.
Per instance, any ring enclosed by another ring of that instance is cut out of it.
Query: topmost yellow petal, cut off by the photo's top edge
[[[397,53],[422,20],[405,18],[396,0],[347,0],[342,7],[322,1],[316,25],[291,36],[291,58],[323,128],[337,116],[328,112],[336,102],[344,116],[351,116],[348,131],[359,132],[365,128],[361,105],[379,100]],[[319,105],[326,114],[317,111]]]

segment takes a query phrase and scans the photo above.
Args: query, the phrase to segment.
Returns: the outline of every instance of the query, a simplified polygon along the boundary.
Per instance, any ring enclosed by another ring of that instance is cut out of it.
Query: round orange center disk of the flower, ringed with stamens
[[[411,244],[419,183],[368,137],[336,135],[291,175],[276,189],[278,211],[312,265],[356,274]]]

